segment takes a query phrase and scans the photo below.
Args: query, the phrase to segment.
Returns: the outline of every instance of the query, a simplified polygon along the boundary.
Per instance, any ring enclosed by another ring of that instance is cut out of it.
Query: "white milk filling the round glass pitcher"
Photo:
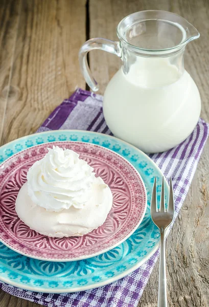
[[[187,71],[167,58],[137,58],[121,68],[104,94],[103,112],[114,136],[146,152],[168,150],[188,137],[201,110],[199,91]]]

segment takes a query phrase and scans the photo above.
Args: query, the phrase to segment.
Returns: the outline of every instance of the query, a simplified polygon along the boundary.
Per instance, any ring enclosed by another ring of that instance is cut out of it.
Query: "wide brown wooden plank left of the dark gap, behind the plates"
[[[22,0],[1,143],[34,133],[77,86],[84,0]],[[21,124],[20,124],[21,123]]]

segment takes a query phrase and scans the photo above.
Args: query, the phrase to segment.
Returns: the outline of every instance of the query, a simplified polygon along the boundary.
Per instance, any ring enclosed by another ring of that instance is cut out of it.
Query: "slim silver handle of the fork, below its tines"
[[[164,234],[165,234],[165,230],[161,228],[160,229],[158,307],[167,307],[166,253],[165,253]]]

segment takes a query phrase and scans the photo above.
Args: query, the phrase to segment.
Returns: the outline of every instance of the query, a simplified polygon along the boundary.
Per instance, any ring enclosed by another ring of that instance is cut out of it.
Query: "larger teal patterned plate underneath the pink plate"
[[[37,144],[80,141],[109,148],[127,159],[140,172],[147,189],[148,206],[137,230],[121,245],[96,257],[71,262],[29,258],[0,243],[0,279],[13,286],[47,293],[84,291],[118,280],[140,267],[159,246],[159,231],[150,216],[150,199],[157,176],[158,199],[162,173],[154,162],[132,145],[104,134],[80,130],[47,131],[10,142],[0,148],[0,163],[14,153]],[[1,165],[0,165],[1,167]],[[166,199],[169,186],[166,184]]]

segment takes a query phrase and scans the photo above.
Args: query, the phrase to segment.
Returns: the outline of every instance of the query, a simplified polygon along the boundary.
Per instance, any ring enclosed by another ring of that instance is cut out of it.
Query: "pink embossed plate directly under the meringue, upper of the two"
[[[15,200],[32,164],[57,145],[72,149],[94,167],[110,187],[113,205],[105,223],[82,236],[51,238],[20,221]],[[41,260],[73,261],[90,258],[118,246],[140,225],[147,207],[140,174],[123,157],[104,147],[84,142],[51,142],[23,150],[0,165],[0,241],[16,252]]]

